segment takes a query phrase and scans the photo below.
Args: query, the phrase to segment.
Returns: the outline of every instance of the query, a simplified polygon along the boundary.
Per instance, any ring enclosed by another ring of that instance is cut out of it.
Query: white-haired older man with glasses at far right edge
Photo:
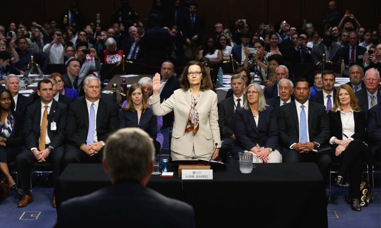
[[[355,93],[358,107],[365,113],[376,104],[381,103],[381,91],[378,86],[379,80],[378,71],[375,68],[370,68],[365,72],[365,89]]]

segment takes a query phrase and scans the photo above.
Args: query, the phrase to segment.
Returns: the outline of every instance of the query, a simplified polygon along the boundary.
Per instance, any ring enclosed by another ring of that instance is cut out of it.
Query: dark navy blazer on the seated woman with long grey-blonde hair
[[[278,125],[276,124],[275,110],[266,106],[266,110],[259,112],[258,126],[255,123],[251,110],[236,109],[234,117],[234,133],[236,140],[232,145],[233,157],[238,153],[249,150],[259,144],[261,147],[278,148]]]

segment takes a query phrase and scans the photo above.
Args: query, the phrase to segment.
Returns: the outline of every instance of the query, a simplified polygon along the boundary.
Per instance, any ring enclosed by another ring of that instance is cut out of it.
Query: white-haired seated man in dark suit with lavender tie
[[[119,128],[118,109],[115,103],[100,96],[99,78],[87,76],[83,89],[85,99],[69,106],[64,167],[70,163],[101,162],[105,141]]]

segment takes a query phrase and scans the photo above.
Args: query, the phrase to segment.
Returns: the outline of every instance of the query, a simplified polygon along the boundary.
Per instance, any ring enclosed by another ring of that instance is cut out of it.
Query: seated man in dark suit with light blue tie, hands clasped
[[[332,160],[329,154],[316,156],[311,151],[327,144],[329,119],[323,105],[308,101],[308,82],[295,84],[295,101],[279,108],[278,127],[283,162],[315,162],[323,177],[328,176]]]

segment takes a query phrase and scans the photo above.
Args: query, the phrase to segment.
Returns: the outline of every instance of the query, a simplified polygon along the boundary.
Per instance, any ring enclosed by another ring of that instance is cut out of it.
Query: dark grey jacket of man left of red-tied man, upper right
[[[341,64],[341,61],[342,61],[341,45],[332,42],[329,53],[330,53],[329,55],[330,61]],[[320,42],[312,46],[311,58],[313,63],[319,62],[323,54],[325,54],[323,42]]]

